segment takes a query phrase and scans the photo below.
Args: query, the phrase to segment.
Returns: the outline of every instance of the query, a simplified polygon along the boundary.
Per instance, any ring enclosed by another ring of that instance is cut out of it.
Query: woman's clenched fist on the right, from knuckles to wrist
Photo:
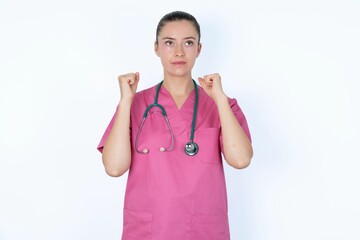
[[[208,74],[203,78],[199,77],[198,80],[201,87],[215,102],[225,96],[221,85],[221,77],[218,73]]]

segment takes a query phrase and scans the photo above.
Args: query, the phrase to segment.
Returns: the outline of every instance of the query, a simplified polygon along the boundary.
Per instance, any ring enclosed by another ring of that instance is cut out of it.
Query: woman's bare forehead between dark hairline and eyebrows
[[[194,25],[187,20],[173,21],[166,23],[159,34],[160,38],[187,38],[194,37],[198,39],[198,33]]]

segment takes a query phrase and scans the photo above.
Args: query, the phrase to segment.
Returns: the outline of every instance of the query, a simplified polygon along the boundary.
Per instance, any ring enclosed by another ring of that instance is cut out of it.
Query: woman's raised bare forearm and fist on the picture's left
[[[121,75],[118,80],[121,99],[114,125],[102,150],[105,171],[112,177],[123,175],[131,164],[130,109],[139,81],[139,73]]]

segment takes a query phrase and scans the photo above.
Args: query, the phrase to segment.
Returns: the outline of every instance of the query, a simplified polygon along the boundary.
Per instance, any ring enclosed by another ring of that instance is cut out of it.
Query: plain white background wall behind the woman
[[[119,99],[162,77],[159,19],[202,27],[194,78],[219,72],[253,137],[250,167],[225,167],[232,239],[360,239],[360,3],[0,2],[0,239],[111,240],[127,176],[96,146]]]

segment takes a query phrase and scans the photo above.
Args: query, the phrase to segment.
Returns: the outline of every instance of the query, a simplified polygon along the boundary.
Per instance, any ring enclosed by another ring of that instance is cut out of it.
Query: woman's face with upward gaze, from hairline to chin
[[[199,36],[191,22],[166,23],[155,42],[165,77],[191,77],[191,70],[201,51]]]

